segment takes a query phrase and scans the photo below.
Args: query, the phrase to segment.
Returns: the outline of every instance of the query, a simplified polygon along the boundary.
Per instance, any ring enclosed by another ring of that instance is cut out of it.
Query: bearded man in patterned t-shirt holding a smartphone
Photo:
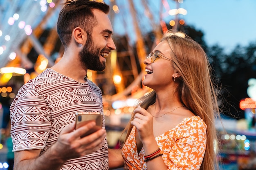
[[[115,50],[108,5],[90,0],[66,1],[57,31],[65,48],[62,59],[19,90],[10,107],[16,170],[108,169],[103,129],[75,129],[75,113],[101,112],[102,92],[86,79],[87,69],[102,71]]]

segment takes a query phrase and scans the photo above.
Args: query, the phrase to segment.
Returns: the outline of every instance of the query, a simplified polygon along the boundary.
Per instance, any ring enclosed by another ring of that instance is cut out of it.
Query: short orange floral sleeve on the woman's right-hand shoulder
[[[177,126],[173,134],[175,144],[165,160],[170,170],[199,170],[206,149],[206,124],[193,116]]]

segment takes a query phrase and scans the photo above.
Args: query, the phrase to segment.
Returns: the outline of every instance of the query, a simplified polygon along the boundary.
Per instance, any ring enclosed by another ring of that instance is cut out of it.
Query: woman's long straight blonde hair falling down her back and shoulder
[[[214,170],[217,165],[215,147],[218,147],[214,120],[219,116],[219,90],[215,86],[208,57],[200,44],[184,33],[169,30],[161,41],[168,42],[172,52],[173,69],[180,73],[175,91],[181,102],[207,124],[207,145],[200,170]],[[147,109],[155,102],[155,97],[156,93],[152,91],[139,98],[138,103]],[[131,120],[133,116],[134,114]],[[126,139],[131,129],[132,125],[129,122],[124,129],[127,133]]]

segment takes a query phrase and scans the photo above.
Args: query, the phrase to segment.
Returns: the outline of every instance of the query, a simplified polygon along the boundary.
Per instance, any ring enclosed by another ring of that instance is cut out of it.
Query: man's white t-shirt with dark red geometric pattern
[[[40,154],[44,153],[56,142],[63,127],[75,121],[76,112],[103,113],[99,87],[90,80],[79,83],[46,69],[23,85],[11,104],[13,151],[41,149]],[[108,170],[107,139],[99,150],[70,159],[61,169]]]

